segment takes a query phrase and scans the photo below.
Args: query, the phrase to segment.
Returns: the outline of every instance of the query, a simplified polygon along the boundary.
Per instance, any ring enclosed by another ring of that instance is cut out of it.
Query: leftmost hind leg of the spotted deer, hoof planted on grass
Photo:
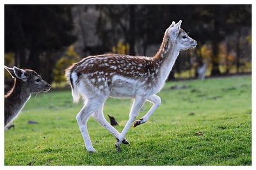
[[[82,110],[77,114],[76,120],[84,139],[84,143],[88,152],[96,152],[92,146],[92,141],[87,130],[87,121],[94,111],[103,103],[102,99],[88,99]]]

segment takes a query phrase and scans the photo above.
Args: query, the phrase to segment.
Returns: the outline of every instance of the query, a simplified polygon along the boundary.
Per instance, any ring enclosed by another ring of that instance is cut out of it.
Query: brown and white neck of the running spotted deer
[[[170,36],[165,35],[158,52],[153,57],[159,66],[158,77],[160,81],[166,81],[178,55],[179,50],[175,48]]]

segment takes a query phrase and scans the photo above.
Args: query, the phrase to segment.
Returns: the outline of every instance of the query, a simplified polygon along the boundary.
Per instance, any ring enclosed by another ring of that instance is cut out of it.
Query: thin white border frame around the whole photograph
[[[158,1],[146,1],[146,0],[140,0],[140,1],[134,1],[134,0],[129,0],[129,1],[120,1],[120,0],[111,0],[111,1],[99,1],[99,0],[94,0],[94,1],[82,1],[82,0],[72,0],[72,1],[67,1],[67,0],[55,0],[49,1],[49,0],[40,0],[40,1],[18,1],[18,0],[3,0],[1,1],[1,53],[2,57],[0,57],[0,62],[1,66],[4,66],[4,4],[252,4],[252,166],[161,166],[158,168],[161,169],[255,169],[255,107],[256,107],[256,101],[255,101],[255,73],[254,73],[254,67],[255,67],[255,2],[256,1],[248,1],[248,0],[243,0],[243,1],[221,1],[221,0],[215,0],[215,1],[199,1],[199,0],[194,0],[193,3],[191,1],[184,1],[184,0],[179,0],[176,2],[173,2],[171,0],[166,1],[166,0],[158,0]],[[2,68],[4,69],[4,67]],[[3,72],[0,74],[1,78],[1,85],[2,88],[0,88],[0,93],[1,96],[4,96],[4,74]],[[1,106],[1,127],[2,129],[0,131],[0,168],[1,169],[40,169],[40,168],[45,168],[45,166],[4,166],[4,97],[0,97],[0,106]],[[254,105],[253,105],[254,103]],[[47,166],[49,169],[70,169],[70,168],[76,168],[76,169],[102,169],[102,166]],[[144,168],[150,168],[154,169],[155,166],[107,166],[104,167],[106,169],[144,169]]]

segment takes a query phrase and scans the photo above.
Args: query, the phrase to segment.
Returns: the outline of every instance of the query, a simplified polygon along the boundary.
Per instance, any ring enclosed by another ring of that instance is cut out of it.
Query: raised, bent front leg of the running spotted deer
[[[147,122],[148,119],[150,118],[150,116],[154,113],[154,111],[156,111],[156,109],[161,104],[161,98],[159,96],[157,96],[156,94],[153,94],[152,96],[148,97],[147,101],[150,101],[154,105],[150,108],[150,110],[144,117],[140,118],[140,120],[136,120],[133,123],[133,127],[136,127],[137,125],[141,125],[141,124],[144,124],[145,122]]]

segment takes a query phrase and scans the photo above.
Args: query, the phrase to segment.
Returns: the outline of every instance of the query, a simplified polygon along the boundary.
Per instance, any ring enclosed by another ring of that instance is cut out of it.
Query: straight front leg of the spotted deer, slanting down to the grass
[[[129,128],[131,127],[132,122],[134,120],[136,120],[136,117],[138,116],[140,109],[144,103],[145,103],[145,97],[143,97],[143,96],[135,97],[134,102],[132,103],[132,108],[131,108],[130,114],[129,114],[129,120],[125,124],[125,127],[124,127],[123,131],[121,132],[120,136],[118,137],[118,141],[115,144],[116,150],[118,152],[121,151],[120,145],[121,145],[122,141],[124,140],[124,137],[127,134]]]

